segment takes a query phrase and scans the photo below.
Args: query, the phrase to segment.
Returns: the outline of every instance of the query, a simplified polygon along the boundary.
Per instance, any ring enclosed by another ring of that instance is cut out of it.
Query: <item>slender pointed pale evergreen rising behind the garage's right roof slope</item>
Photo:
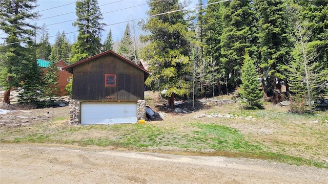
[[[129,24],[127,24],[123,38],[118,45],[117,54],[123,56],[124,58],[130,61],[133,61],[134,63],[137,62],[136,58],[134,57],[133,42],[131,39]]]

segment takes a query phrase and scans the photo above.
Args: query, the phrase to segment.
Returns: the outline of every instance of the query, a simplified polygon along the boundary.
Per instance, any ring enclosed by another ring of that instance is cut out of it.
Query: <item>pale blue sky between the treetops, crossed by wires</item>
[[[56,35],[58,31],[62,33],[65,31],[65,33],[75,32],[67,34],[67,38],[71,42],[74,41],[74,36],[77,37],[78,33],[77,28],[72,26],[73,21],[63,22],[67,20],[73,20],[76,19],[75,15],[75,1],[71,0],[60,0],[60,1],[54,1],[54,0],[39,0],[38,1],[38,7],[35,9],[36,11],[39,11],[39,14],[42,15],[40,17],[40,20],[35,21],[38,26],[42,26],[43,24],[46,25],[50,37],[50,42],[54,43],[54,40],[56,38]],[[70,4],[72,3],[72,4]],[[70,4],[70,5],[67,5]],[[107,4],[107,5],[106,5]],[[146,4],[146,5],[142,5]],[[66,6],[63,6],[66,5]],[[105,31],[103,31],[103,37],[101,38],[102,41],[106,38],[109,30],[112,30],[112,35],[114,40],[120,40],[125,27],[127,25],[127,22],[131,19],[135,18],[142,18],[146,17],[146,12],[148,10],[148,5],[145,0],[98,0],[98,5],[100,7],[101,13],[103,13],[104,19],[102,20],[103,23],[111,26],[104,27]],[[140,5],[140,6],[138,6]],[[61,7],[58,7],[61,6]],[[137,7],[133,7],[137,6]],[[50,9],[53,7],[58,7],[54,9]],[[132,8],[129,8],[132,7]],[[120,10],[128,8],[125,10]],[[50,10],[47,10],[50,9]],[[44,11],[43,11],[44,10]],[[117,10],[117,11],[115,11]],[[114,12],[111,12],[114,11]],[[73,12],[73,13],[71,13]],[[68,13],[68,14],[67,14]],[[60,14],[65,14],[61,16],[56,16]],[[52,17],[56,16],[56,17]],[[48,18],[52,17],[52,18]],[[133,18],[132,18],[133,17]],[[59,23],[62,22],[62,23]],[[124,22],[121,24],[117,24],[118,22]],[[58,23],[58,24],[57,24]],[[52,25],[54,24],[54,25]],[[112,25],[114,24],[114,25]],[[47,26],[49,25],[49,26]]]

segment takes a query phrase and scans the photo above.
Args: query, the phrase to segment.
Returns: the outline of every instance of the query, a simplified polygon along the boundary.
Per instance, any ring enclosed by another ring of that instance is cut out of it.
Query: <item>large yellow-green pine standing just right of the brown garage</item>
[[[183,9],[182,3],[173,1],[148,1],[150,16]],[[150,17],[142,29],[149,35],[141,41],[149,44],[142,50],[142,58],[149,61],[152,75],[146,81],[157,90],[166,89],[169,106],[174,107],[174,95],[189,95],[191,89],[191,61],[188,57],[190,42],[186,12],[174,12]]]

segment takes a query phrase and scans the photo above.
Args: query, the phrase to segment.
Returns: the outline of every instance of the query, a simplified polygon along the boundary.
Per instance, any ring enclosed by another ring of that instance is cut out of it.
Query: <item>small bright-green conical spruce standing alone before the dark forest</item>
[[[257,109],[263,108],[262,96],[263,91],[259,90],[260,83],[257,80],[258,73],[255,70],[254,61],[248,55],[245,55],[245,60],[241,68],[241,82],[239,94],[241,98],[247,99],[245,108]]]

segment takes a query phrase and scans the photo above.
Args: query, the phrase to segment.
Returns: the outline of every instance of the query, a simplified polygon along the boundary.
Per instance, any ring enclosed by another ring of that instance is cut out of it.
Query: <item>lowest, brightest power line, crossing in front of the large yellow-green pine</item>
[[[159,15],[165,15],[165,14],[174,13],[174,12],[179,12],[179,11],[186,11],[186,10],[189,10],[189,9],[194,9],[194,8],[198,8],[198,7],[214,5],[214,4],[223,3],[223,2],[228,2],[228,1],[232,1],[232,0],[223,0],[223,1],[219,1],[219,2],[209,3],[209,4],[206,4],[206,5],[198,5],[198,6],[191,7],[191,8],[187,8],[187,9],[173,10],[173,11],[164,12],[164,13],[159,13],[159,14],[155,14],[155,15],[150,15],[150,16],[146,16],[146,17],[142,17],[142,18],[135,18],[135,19],[132,19],[132,20],[126,20],[126,21],[116,22],[116,23],[114,23],[114,24],[106,25],[106,26],[103,26],[103,27],[113,26],[113,25],[122,24],[122,23],[129,22],[129,21],[140,20],[140,19],[144,19],[144,18],[151,18],[151,17],[155,17],[155,16],[159,16]],[[80,31],[88,31],[88,30],[99,29],[99,28],[103,28],[103,27],[95,27],[95,28],[90,28],[90,29],[85,29],[85,30],[80,30]],[[65,35],[68,35],[68,34],[71,34],[71,33],[80,32],[80,31],[73,31],[73,32],[65,33]],[[50,37],[55,37],[55,36],[57,36],[57,35],[49,36],[49,38],[50,38]],[[6,46],[6,45],[15,44],[15,43],[22,43],[22,42],[33,41],[33,40],[34,40],[34,39],[23,40],[23,41],[17,41],[17,42],[8,43],[8,44],[3,44],[3,45]]]

